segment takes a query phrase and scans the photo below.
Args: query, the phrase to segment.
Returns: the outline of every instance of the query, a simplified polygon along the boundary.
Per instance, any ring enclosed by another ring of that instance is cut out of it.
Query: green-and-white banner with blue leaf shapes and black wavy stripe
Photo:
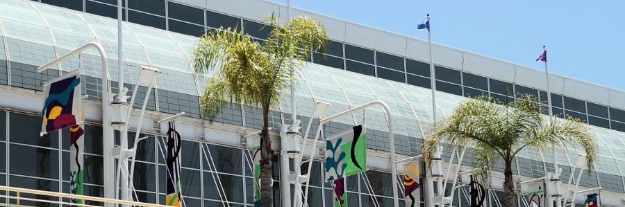
[[[367,170],[367,135],[362,125],[326,141],[326,181]]]

